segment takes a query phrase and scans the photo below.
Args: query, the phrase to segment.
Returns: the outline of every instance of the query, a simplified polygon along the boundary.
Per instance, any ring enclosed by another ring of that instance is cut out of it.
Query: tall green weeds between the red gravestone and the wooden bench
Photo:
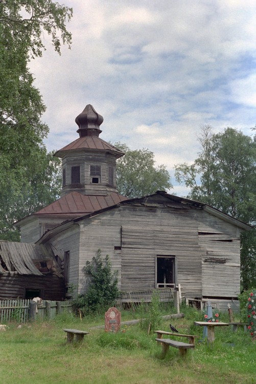
[[[161,328],[162,325],[162,311],[160,307],[159,294],[153,291],[151,303],[142,303],[139,307],[140,321],[139,324],[142,329],[156,330]]]

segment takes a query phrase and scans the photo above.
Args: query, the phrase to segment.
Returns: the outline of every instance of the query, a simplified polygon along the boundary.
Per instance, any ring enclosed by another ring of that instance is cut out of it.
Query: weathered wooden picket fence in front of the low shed
[[[0,324],[17,321],[25,323],[29,320],[29,305],[31,300],[0,300]],[[37,307],[38,318],[54,318],[56,314],[72,311],[71,301],[43,300]]]

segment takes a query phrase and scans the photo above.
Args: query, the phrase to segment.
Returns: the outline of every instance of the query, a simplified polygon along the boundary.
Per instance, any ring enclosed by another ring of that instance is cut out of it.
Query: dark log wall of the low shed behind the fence
[[[45,276],[0,274],[0,300],[25,298],[25,289],[40,289],[43,300],[65,300],[64,280],[54,274]]]

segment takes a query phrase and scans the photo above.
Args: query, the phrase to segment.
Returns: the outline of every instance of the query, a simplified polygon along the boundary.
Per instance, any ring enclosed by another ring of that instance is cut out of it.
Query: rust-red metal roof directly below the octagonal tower
[[[82,195],[73,191],[68,195],[62,196],[52,204],[40,209],[33,215],[58,215],[65,217],[79,217],[90,214],[96,210],[111,207],[127,200],[125,196],[112,192],[107,196]]]

